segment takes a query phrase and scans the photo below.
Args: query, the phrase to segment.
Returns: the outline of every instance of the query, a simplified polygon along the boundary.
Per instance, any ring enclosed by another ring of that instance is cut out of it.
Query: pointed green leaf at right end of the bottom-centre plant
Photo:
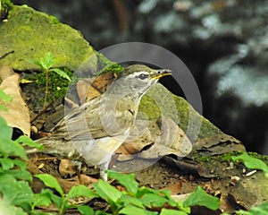
[[[221,202],[217,197],[205,193],[201,186],[197,186],[195,192],[188,196],[183,206],[199,205],[215,211],[220,207],[220,204]]]

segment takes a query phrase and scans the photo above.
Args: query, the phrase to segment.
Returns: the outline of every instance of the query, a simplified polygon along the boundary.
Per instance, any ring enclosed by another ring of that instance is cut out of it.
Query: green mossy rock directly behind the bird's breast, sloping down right
[[[222,134],[219,128],[200,116],[187,100],[173,95],[160,83],[148,90],[141,99],[139,111],[144,113],[141,118],[157,120],[162,114],[171,116],[190,139],[191,136],[203,139]]]

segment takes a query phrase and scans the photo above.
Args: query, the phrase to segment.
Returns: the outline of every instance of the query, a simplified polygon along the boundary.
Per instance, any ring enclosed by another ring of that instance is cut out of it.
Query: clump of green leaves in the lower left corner
[[[32,177],[27,170],[27,155],[21,143],[38,149],[41,147],[26,136],[13,141],[13,128],[2,117],[0,128],[0,211],[6,211],[4,214],[26,215],[36,205],[49,204],[49,199],[39,201],[42,194],[33,193],[29,187]]]

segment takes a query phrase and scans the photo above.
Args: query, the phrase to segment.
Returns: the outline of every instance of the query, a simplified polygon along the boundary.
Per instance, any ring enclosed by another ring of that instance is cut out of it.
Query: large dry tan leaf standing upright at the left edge
[[[0,73],[5,71],[13,71],[12,68],[3,66],[0,68]],[[8,125],[21,129],[21,131],[29,136],[30,123],[29,123],[29,109],[25,101],[21,98],[21,88],[19,85],[20,75],[13,73],[12,75],[4,78],[0,85],[0,89],[13,98],[11,103],[5,103],[0,100],[0,104],[8,108],[8,111],[0,111],[0,116],[4,117]]]

